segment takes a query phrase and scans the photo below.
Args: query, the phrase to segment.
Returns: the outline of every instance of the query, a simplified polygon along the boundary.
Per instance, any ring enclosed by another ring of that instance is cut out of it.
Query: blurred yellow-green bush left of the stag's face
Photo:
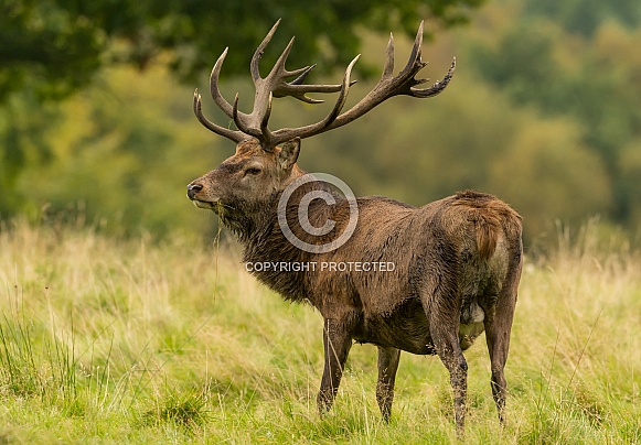
[[[47,134],[52,159],[17,183],[29,197],[23,209],[54,219],[72,210],[110,232],[162,237],[181,226],[204,232],[212,219],[190,208],[184,185],[213,164],[209,153],[216,141],[194,131],[191,110],[182,107],[189,90],[159,89],[170,82],[159,68],[145,76],[107,70],[96,88],[60,107],[64,118]]]

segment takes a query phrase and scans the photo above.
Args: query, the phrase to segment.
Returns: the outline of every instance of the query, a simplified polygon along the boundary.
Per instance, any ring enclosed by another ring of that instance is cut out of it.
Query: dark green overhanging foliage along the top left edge
[[[464,22],[483,0],[206,1],[2,0],[0,3],[0,104],[11,91],[34,88],[57,98],[86,85],[100,67],[149,66],[168,53],[179,77],[211,68],[225,45],[253,48],[279,19],[288,18],[277,46],[298,35],[292,63],[348,63],[360,46],[360,26],[416,32],[420,18],[435,25]],[[115,46],[114,44],[118,44]],[[346,50],[346,52],[345,52]],[[245,69],[248,55],[232,52],[228,73]]]

